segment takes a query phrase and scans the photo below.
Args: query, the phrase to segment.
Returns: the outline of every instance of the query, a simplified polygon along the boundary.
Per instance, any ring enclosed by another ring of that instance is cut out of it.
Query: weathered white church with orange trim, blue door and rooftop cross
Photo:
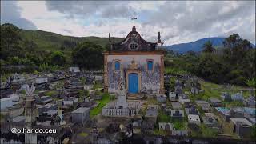
[[[133,20],[137,18],[132,18]],[[122,42],[110,38],[104,53],[104,89],[116,93],[124,84],[128,96],[164,94],[164,52],[158,32],[156,42],[147,42],[133,26]]]

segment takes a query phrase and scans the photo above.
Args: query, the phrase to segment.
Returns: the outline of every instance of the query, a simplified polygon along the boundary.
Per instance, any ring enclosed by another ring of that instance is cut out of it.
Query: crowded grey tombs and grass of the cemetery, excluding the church
[[[79,74],[82,71],[74,73]],[[15,74],[15,77],[18,75]],[[234,92],[233,97],[230,94],[230,100],[227,100],[228,94],[219,92],[216,97],[212,95],[204,99],[201,95],[206,93],[207,89],[203,88],[204,92],[194,94],[183,86],[182,80],[179,80],[173,83],[176,92],[169,95],[155,94],[149,95],[148,98],[134,99],[127,96],[129,91],[123,88],[126,86],[122,83],[115,93],[104,92],[101,89],[104,84],[100,78],[92,84],[86,83],[86,77],[81,76],[50,82],[50,89],[38,87],[34,83],[30,87],[24,83],[21,90],[2,96],[1,122],[8,126],[8,120],[12,125],[18,126],[26,122],[26,116],[22,115],[25,111],[26,114],[31,114],[30,117],[34,117],[32,120],[36,122],[35,126],[62,126],[66,130],[58,135],[44,136],[52,142],[71,139],[63,135],[68,133],[70,128],[75,131],[86,128],[85,137],[96,138],[94,134],[106,133],[104,130],[107,126],[104,123],[108,122],[124,126],[123,130],[117,128],[115,133],[125,132],[128,135],[134,133],[194,137],[197,135],[195,130],[208,130],[213,137],[230,135],[233,138],[250,138],[248,131],[255,125],[256,112],[251,103],[254,102],[254,96],[250,95],[241,98],[241,93]],[[206,85],[202,82],[202,86]],[[176,94],[180,96],[176,97]],[[28,99],[30,95],[34,97],[31,100]],[[244,106],[230,105],[234,101],[242,102]],[[22,109],[23,102],[32,102],[30,105],[36,109]],[[130,124],[131,119],[133,122]],[[194,124],[198,126],[197,129],[194,129]],[[229,130],[227,126],[230,127]],[[126,137],[129,137],[128,135]],[[81,134],[76,137],[81,137]]]

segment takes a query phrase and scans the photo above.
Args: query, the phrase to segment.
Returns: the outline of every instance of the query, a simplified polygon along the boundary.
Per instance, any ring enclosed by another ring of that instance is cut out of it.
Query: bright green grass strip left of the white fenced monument
[[[110,102],[110,94],[104,93],[102,95],[102,99],[96,101],[98,103],[98,106],[94,107],[94,109],[90,110],[90,118],[93,118],[94,116],[100,114],[102,112],[102,107],[106,106],[108,102]]]

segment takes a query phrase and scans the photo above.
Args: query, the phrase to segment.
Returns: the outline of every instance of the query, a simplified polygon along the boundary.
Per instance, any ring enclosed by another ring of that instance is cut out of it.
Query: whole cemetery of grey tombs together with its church
[[[165,74],[160,32],[156,42],[147,42],[134,25],[121,42],[110,34],[108,41],[102,71],[70,66],[42,74],[14,73],[1,82],[2,138],[12,134],[11,127],[26,126],[58,133],[21,134],[22,140],[12,134],[14,142],[251,140],[256,118],[251,90]]]

